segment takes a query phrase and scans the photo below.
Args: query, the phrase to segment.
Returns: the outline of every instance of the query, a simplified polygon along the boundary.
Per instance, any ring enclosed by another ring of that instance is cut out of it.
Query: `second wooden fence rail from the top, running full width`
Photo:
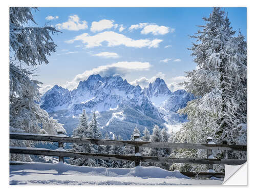
[[[160,163],[196,163],[196,164],[227,164],[240,165],[246,160],[238,159],[192,159],[192,158],[168,158],[168,157],[151,157],[151,156],[130,156],[130,155],[113,155],[113,154],[93,154],[79,152],[61,152],[53,150],[42,150],[37,148],[10,147],[10,153],[45,155],[58,157],[76,157],[84,159],[104,159],[104,160],[124,160],[124,161],[141,161],[141,162],[160,162]]]

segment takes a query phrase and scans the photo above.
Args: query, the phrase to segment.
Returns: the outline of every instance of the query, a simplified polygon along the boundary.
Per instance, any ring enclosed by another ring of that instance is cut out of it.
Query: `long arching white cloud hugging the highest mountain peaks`
[[[84,71],[82,74],[78,74],[72,81],[67,81],[66,84],[62,85],[63,88],[67,88],[69,90],[73,90],[78,86],[78,83],[82,80],[86,80],[92,74],[100,74],[101,76],[110,76],[119,74],[124,76],[127,73],[131,73],[133,71],[144,71],[150,69],[151,65],[149,62],[116,62],[111,65],[99,66],[92,70]]]

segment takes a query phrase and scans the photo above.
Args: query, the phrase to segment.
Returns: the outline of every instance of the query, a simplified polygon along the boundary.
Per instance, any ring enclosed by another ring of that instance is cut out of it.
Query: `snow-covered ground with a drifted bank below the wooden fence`
[[[216,185],[220,180],[190,179],[180,172],[159,167],[104,168],[66,163],[25,163],[10,165],[10,184],[68,185]]]

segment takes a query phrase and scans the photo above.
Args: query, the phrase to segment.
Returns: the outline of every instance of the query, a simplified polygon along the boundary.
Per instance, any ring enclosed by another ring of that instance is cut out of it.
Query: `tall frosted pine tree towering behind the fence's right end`
[[[246,42],[230,27],[225,12],[214,8],[202,31],[195,36],[197,44],[190,49],[197,69],[187,72],[185,89],[198,99],[180,110],[187,114],[176,134],[178,142],[205,143],[211,136],[216,143],[246,144]],[[187,152],[186,152],[187,153]],[[190,157],[205,157],[204,151],[190,151]],[[229,158],[245,158],[246,153],[232,152]],[[216,152],[217,158],[224,153]],[[201,171],[205,166],[193,166]],[[221,170],[220,166],[216,167]]]

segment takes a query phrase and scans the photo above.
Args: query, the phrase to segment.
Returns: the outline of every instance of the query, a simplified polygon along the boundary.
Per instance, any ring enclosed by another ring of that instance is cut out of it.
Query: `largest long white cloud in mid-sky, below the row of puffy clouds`
[[[66,41],[67,43],[72,44],[75,40],[80,40],[86,44],[87,48],[99,47],[102,46],[102,42],[106,41],[108,47],[124,45],[126,47],[135,47],[135,48],[157,48],[159,43],[162,42],[162,39],[138,39],[134,40],[132,38],[126,37],[125,35],[116,33],[114,31],[105,31],[98,33],[94,36],[90,36],[88,33],[83,33],[76,36],[74,39]]]

